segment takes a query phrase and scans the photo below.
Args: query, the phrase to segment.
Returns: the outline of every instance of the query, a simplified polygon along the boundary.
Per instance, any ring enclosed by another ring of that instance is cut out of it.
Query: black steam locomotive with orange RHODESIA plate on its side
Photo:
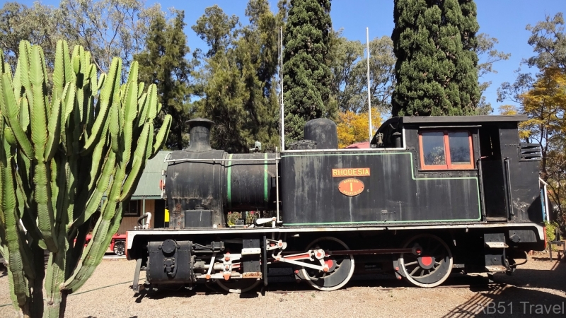
[[[318,290],[354,272],[389,271],[434,287],[453,269],[512,273],[545,248],[541,148],[521,143],[524,116],[395,117],[370,148],[337,149],[334,122],[315,119],[280,153],[209,146],[193,119],[190,146],[166,159],[169,228],[128,232],[146,284],[267,285],[290,267]]]

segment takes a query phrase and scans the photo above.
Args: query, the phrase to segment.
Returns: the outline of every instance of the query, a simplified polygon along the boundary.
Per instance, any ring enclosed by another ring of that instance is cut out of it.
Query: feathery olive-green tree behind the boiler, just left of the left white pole
[[[233,153],[248,152],[254,141],[275,150],[278,136],[273,35],[282,15],[272,13],[267,0],[250,0],[246,16],[250,25],[234,30],[234,17],[207,8],[193,26],[210,48],[197,76],[202,88],[197,114],[216,123],[212,146]]]

